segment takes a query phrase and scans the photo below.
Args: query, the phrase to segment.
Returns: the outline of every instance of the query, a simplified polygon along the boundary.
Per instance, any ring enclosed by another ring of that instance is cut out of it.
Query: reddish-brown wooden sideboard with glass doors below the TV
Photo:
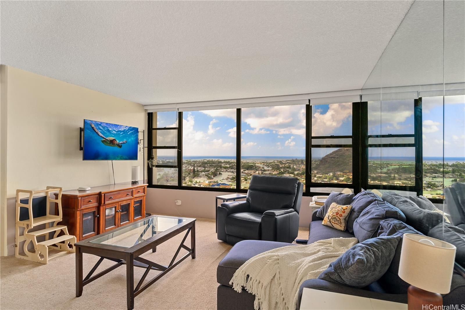
[[[63,191],[60,224],[80,241],[140,220],[145,217],[146,192],[147,184],[131,182]]]

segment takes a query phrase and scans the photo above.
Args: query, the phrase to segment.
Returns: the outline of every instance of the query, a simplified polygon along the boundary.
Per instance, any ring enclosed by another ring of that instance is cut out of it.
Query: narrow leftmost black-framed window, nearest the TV
[[[149,147],[153,158],[149,157],[152,166],[149,169],[151,185],[178,185],[178,112],[151,112],[148,117]]]

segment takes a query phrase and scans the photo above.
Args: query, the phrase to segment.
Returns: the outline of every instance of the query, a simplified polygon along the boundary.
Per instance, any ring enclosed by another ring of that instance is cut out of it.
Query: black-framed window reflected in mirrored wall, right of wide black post
[[[421,99],[369,101],[369,189],[422,191]]]

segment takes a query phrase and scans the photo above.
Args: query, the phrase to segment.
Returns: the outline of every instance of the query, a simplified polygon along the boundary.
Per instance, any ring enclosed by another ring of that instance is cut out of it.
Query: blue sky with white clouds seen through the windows
[[[412,100],[370,102],[368,133],[413,134]],[[465,96],[445,97],[445,156],[465,157]],[[171,112],[165,112],[171,113]],[[243,108],[243,156],[305,157],[305,106]],[[160,114],[161,115],[161,114]],[[159,117],[158,127],[175,124]],[[205,110],[183,113],[184,156],[235,156],[236,110]],[[352,103],[312,106],[312,136],[352,135]],[[442,156],[442,97],[423,98],[423,155]],[[315,149],[321,157],[333,149]],[[313,154],[315,153],[315,154]],[[318,153],[318,154],[317,154]],[[414,156],[408,148],[385,148],[383,156]],[[370,156],[379,156],[371,149]]]

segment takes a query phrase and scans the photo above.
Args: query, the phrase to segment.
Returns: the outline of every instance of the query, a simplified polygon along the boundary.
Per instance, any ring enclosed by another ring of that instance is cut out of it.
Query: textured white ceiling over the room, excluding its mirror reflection
[[[412,1],[1,1],[2,64],[142,104],[360,89]]]

